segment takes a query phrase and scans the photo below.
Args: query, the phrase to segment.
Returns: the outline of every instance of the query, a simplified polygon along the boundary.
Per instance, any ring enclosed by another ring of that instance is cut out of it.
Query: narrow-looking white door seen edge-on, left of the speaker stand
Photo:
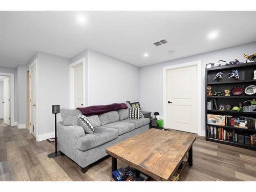
[[[36,65],[29,69],[30,74],[30,133],[36,137],[37,130],[37,77]]]

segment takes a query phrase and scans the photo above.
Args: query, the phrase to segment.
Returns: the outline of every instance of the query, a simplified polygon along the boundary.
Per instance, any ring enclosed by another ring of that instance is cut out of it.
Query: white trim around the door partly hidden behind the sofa
[[[75,62],[72,62],[69,65],[69,107],[70,109],[74,109],[74,67],[77,66],[79,63],[82,63],[82,68],[83,68],[83,72],[82,72],[82,76],[83,76],[83,106],[87,106],[88,105],[88,101],[86,100],[86,93],[87,89],[86,89],[86,58],[81,58]]]

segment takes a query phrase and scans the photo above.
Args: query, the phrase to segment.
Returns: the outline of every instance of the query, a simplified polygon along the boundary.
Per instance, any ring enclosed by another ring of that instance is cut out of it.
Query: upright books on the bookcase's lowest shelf
[[[207,125],[207,137],[251,146],[256,145],[256,134],[243,135],[240,131],[230,131],[218,126]]]

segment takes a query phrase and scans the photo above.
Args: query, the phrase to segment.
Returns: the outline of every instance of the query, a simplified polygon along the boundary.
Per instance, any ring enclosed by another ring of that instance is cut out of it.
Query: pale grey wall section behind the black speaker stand
[[[52,105],[59,104],[61,108],[69,108],[69,64],[70,60],[67,58],[38,52],[39,137],[54,132]],[[60,114],[57,117],[61,121]]]

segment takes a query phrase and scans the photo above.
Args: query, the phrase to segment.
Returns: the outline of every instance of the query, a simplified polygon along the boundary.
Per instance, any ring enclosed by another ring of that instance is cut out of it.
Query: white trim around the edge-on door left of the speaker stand
[[[29,65],[29,75],[30,75],[30,70],[33,66],[36,66],[36,141],[38,141],[38,129],[39,129],[39,126],[38,126],[38,60],[35,59],[30,65]],[[31,82],[29,83],[29,86],[31,86]],[[29,90],[29,98],[31,98],[31,87],[30,87],[30,90]],[[30,113],[29,113],[29,120],[31,121],[31,102],[29,102],[29,110],[30,110]],[[29,122],[30,123],[30,122]],[[29,133],[31,134],[31,126],[29,125]],[[33,135],[33,134],[32,134]]]

